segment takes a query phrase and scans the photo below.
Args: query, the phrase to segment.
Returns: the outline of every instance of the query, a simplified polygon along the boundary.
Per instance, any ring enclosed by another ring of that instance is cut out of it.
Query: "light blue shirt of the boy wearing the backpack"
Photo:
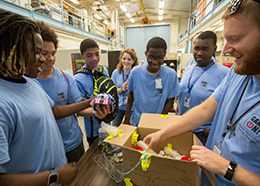
[[[87,68],[86,65],[84,65],[82,68]],[[106,68],[104,68],[104,73],[109,76],[108,71]],[[74,76],[79,91],[81,92],[82,97],[86,97],[87,99],[92,98],[94,96],[93,93],[93,78],[90,74],[84,74],[84,73],[78,73]],[[91,120],[93,121],[93,126],[91,126]],[[97,120],[96,117],[84,117],[84,124],[85,124],[85,132],[88,137],[97,137],[98,136],[98,130],[101,127],[101,124]]]

